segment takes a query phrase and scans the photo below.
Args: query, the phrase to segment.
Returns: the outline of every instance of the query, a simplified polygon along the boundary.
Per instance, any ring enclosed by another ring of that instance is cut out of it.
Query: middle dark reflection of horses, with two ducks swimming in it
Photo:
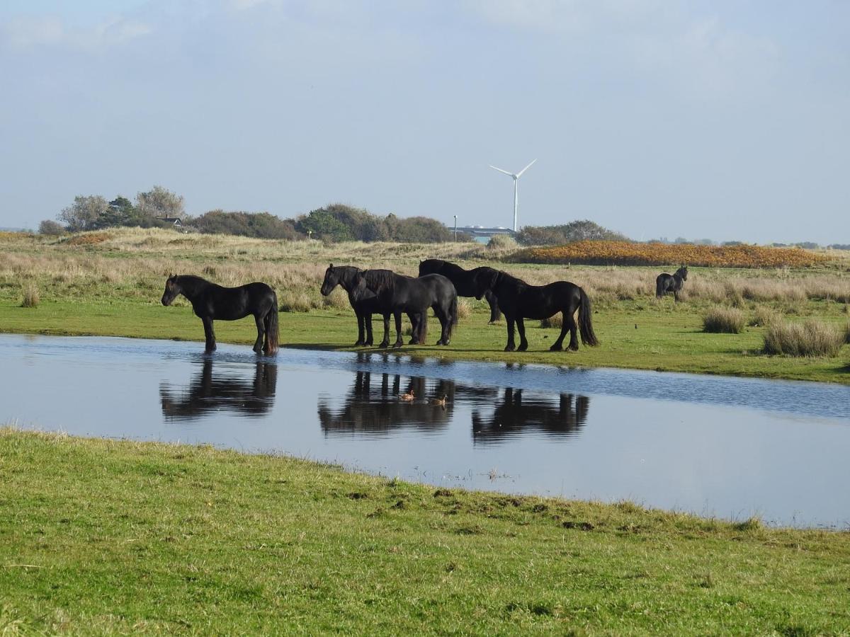
[[[322,431],[331,433],[388,433],[412,427],[431,431],[450,421],[455,382],[398,374],[359,371],[341,409],[319,402]]]

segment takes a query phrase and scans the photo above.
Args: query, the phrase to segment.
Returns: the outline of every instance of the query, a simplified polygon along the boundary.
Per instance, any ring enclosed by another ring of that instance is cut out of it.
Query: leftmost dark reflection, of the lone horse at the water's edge
[[[256,364],[253,382],[234,375],[213,375],[212,358],[205,358],[200,375],[188,387],[173,392],[160,386],[162,415],[167,420],[194,420],[229,409],[246,416],[268,414],[275,402],[277,365]]]

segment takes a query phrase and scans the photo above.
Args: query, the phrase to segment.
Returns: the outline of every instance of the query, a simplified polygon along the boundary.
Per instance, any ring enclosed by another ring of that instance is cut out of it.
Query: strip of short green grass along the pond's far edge
[[[203,340],[201,321],[185,302],[162,307],[158,295],[152,300],[113,296],[98,302],[90,298],[63,302],[42,299],[38,307],[0,301],[0,332]],[[820,304],[827,306],[827,302]],[[740,334],[706,334],[701,313],[684,305],[623,301],[599,307],[593,314],[593,325],[601,345],[581,346],[579,352],[549,352],[558,330],[543,329],[537,326],[538,321],[528,321],[526,335],[530,351],[503,352],[507,341],[504,321],[488,325],[489,314],[484,311],[484,305],[475,303],[472,315],[458,325],[450,347],[405,345],[401,352],[450,359],[657,369],[850,384],[848,357],[842,353],[831,358],[767,356],[762,353],[764,327],[746,327]],[[818,312],[818,302],[808,302],[808,307],[813,313]],[[824,313],[829,309],[825,307]],[[836,313],[836,325],[838,320],[846,321],[846,318]],[[429,325],[428,342],[433,343],[439,337],[439,324],[432,318]],[[379,341],[380,320],[374,321],[374,328]],[[217,321],[215,329],[221,342],[248,345],[257,335],[251,319]],[[285,348],[352,349],[349,346],[356,338],[356,330],[354,313],[350,310],[280,314],[280,341]],[[848,349],[845,346],[842,352]],[[286,357],[286,351],[280,357]]]

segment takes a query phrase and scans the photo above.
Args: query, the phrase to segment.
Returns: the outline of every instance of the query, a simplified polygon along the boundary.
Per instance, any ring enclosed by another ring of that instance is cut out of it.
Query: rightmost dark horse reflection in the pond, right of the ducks
[[[540,431],[549,437],[574,437],[587,421],[590,398],[560,394],[558,403],[547,398],[523,401],[523,391],[508,387],[490,418],[473,411],[473,442],[498,443],[501,439]]]

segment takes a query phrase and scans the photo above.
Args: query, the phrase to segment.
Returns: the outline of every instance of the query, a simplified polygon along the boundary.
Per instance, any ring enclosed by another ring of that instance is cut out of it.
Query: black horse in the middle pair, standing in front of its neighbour
[[[428,333],[428,307],[433,308],[441,327],[437,345],[448,345],[451,330],[457,323],[457,292],[451,281],[442,274],[407,277],[390,270],[363,270],[354,273],[354,301],[375,297],[377,307],[385,316],[395,315],[395,346],[401,347],[401,313],[417,314],[421,320],[414,325],[411,342],[424,343]],[[387,322],[384,322],[386,327]],[[384,340],[386,340],[386,335]]]

